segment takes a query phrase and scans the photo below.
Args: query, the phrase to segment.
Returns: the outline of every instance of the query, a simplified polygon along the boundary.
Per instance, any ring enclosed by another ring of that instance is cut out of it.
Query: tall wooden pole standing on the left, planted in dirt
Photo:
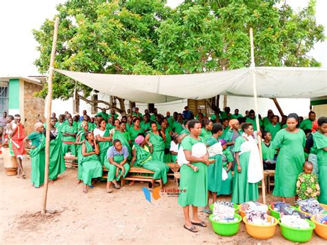
[[[46,99],[46,166],[44,171],[44,192],[42,199],[41,214],[46,214],[46,199],[48,196],[48,177],[49,177],[49,161],[50,161],[50,117],[51,117],[51,102],[52,102],[52,76],[53,63],[56,55],[57,35],[58,35],[59,17],[54,21],[54,32],[52,40],[52,50],[50,57],[49,77],[48,77],[48,95]]]

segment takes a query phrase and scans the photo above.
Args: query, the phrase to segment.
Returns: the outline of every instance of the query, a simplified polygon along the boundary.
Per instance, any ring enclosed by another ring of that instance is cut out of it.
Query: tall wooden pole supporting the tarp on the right
[[[254,51],[255,47],[253,46],[252,28],[250,28],[250,44],[251,44],[251,73],[253,79],[253,97],[255,99],[255,112],[257,113],[257,116],[255,117],[255,123],[257,124],[257,131],[260,132],[260,124],[259,124],[259,117],[258,117],[257,83],[255,80],[255,51]],[[262,164],[264,161],[262,160],[262,145],[261,145],[260,135],[258,135],[258,146],[259,146],[259,155],[260,155],[260,161],[262,166],[262,172],[264,172],[264,164]],[[262,202],[266,204],[266,185],[265,185],[264,177],[262,178],[261,186],[262,186]]]

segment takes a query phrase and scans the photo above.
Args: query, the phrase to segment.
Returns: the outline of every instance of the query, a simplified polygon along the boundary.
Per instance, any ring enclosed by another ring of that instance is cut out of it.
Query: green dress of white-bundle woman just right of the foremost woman
[[[206,140],[208,146],[212,146],[216,143],[218,143],[218,140],[215,137],[209,137]],[[210,159],[215,159],[216,162],[208,166],[208,190],[212,193],[219,194],[223,175],[223,161],[220,154],[210,157]]]

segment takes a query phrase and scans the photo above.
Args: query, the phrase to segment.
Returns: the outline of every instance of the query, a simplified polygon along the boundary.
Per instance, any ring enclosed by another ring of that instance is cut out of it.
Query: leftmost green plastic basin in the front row
[[[230,237],[231,235],[235,235],[239,232],[239,224],[242,221],[241,215],[238,215],[235,213],[235,218],[237,218],[237,221],[235,222],[217,222],[215,220],[212,220],[213,215],[209,216],[209,220],[212,225],[213,231],[217,233],[218,235],[222,235],[224,237]]]

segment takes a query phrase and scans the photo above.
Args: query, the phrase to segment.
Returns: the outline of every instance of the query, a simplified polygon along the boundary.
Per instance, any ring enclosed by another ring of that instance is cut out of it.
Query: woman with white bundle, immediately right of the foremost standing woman
[[[212,125],[212,136],[206,140],[209,159],[215,159],[215,163],[208,166],[208,204],[204,208],[205,213],[211,213],[209,208],[210,193],[212,195],[212,203],[215,203],[217,201],[217,195],[219,195],[219,190],[221,187],[221,179],[223,174],[223,163],[221,155],[223,148],[221,147],[218,137],[222,134],[223,126],[221,124],[215,123]]]

